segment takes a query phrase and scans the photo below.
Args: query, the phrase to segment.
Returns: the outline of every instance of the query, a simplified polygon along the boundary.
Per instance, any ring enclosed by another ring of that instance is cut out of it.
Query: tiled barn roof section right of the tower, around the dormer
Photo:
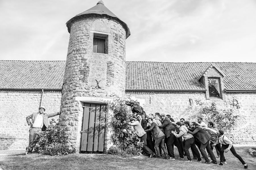
[[[214,63],[227,89],[256,89],[256,63]],[[211,63],[126,62],[126,89],[203,90],[199,78]]]

